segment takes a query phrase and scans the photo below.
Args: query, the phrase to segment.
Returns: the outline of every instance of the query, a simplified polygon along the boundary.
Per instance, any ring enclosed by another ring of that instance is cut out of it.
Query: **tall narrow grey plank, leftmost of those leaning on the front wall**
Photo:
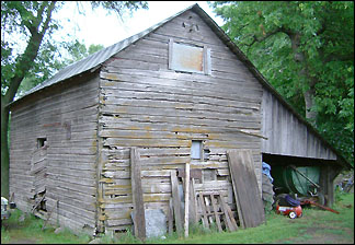
[[[130,149],[130,182],[131,182],[131,196],[134,206],[134,226],[135,236],[146,238],[146,217],[145,217],[145,202],[141,189],[140,177],[140,163],[138,160],[137,148]]]

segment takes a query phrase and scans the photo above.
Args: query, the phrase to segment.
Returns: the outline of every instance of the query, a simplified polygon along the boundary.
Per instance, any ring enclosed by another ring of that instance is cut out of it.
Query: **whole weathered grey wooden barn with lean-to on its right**
[[[10,192],[75,231],[130,229],[130,149],[146,209],[168,215],[171,170],[236,210],[226,151],[322,167],[324,195],[348,163],[267,83],[198,4],[55,74],[11,103]]]

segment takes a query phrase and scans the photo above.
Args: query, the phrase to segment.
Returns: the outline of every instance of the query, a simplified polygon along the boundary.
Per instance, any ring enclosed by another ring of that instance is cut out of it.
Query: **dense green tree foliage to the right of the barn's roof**
[[[354,2],[209,4],[267,81],[354,165]]]

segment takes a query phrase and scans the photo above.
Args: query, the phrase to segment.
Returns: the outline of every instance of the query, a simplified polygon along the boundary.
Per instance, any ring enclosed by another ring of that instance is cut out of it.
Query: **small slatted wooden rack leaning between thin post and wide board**
[[[219,232],[224,231],[222,226],[230,232],[238,230],[233,214],[219,191],[197,192],[197,202],[204,228],[209,229],[210,224],[216,223]]]

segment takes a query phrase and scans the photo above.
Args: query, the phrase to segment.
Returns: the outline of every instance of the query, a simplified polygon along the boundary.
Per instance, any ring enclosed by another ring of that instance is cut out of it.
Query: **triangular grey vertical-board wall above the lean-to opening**
[[[267,138],[262,142],[263,153],[336,160],[335,153],[266,89],[262,115],[262,135]]]

